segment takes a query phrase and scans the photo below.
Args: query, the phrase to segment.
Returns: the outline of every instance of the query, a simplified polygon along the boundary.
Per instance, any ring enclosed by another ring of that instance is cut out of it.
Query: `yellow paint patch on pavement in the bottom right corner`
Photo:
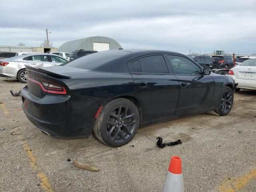
[[[248,185],[248,183],[256,179],[256,167],[250,170],[250,172],[244,176],[230,178],[222,182],[219,186],[219,192],[237,192],[242,190]]]

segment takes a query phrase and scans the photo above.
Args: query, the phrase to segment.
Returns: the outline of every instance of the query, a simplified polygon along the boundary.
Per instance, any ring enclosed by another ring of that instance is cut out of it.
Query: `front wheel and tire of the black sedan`
[[[220,116],[227,115],[233,106],[233,101],[234,101],[233,90],[230,87],[225,86],[222,89],[220,96],[218,97],[214,111],[218,113]]]

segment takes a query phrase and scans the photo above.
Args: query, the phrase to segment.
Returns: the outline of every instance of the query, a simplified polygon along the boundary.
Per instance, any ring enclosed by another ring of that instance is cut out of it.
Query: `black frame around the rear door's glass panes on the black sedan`
[[[134,62],[135,60],[138,60],[140,62],[141,58],[155,56],[155,55],[161,55],[164,58],[164,61],[165,61],[168,73],[145,73],[145,72],[143,72],[143,68],[142,68],[141,64],[140,64],[140,67],[142,69],[142,72],[130,72],[130,69],[129,69],[129,66],[128,66],[130,63]],[[170,75],[170,74],[173,74],[172,73],[172,68],[170,68],[170,66],[168,64],[168,60],[167,60],[167,58],[165,56],[165,53],[146,54],[146,55],[142,55],[142,56],[136,57],[136,58],[134,58],[134,59],[132,59],[132,60],[127,62],[127,68],[129,70],[130,74],[149,74],[149,75],[150,74],[154,74],[154,75]]]

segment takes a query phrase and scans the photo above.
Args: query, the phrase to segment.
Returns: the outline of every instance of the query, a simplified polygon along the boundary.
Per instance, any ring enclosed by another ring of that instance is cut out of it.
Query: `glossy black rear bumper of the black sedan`
[[[22,89],[22,109],[40,130],[58,137],[92,134],[95,114],[107,100],[81,95],[49,95],[38,98]]]

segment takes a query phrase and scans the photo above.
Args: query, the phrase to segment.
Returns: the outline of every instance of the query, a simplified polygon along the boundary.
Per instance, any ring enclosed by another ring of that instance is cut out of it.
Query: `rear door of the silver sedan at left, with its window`
[[[52,63],[49,62],[47,55],[33,55],[28,58],[28,65],[34,68],[50,67]]]

